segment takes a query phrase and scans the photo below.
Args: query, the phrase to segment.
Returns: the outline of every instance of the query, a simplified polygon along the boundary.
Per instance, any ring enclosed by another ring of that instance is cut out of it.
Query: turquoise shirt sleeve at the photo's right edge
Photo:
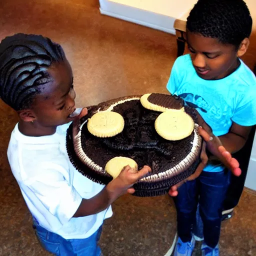
[[[256,88],[240,93],[240,101],[235,108],[232,121],[242,126],[256,124]]]

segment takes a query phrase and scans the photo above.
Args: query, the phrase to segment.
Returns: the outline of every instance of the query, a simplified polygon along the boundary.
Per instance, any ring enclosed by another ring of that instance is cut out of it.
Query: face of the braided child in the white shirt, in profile
[[[42,92],[35,96],[31,110],[38,124],[57,126],[73,120],[69,117],[75,109],[72,69],[65,60],[53,63],[48,73],[52,81],[46,83]]]

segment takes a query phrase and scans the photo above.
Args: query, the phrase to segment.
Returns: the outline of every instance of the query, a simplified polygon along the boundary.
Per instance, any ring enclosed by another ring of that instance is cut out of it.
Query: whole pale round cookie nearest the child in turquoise
[[[161,137],[167,140],[179,140],[192,133],[194,121],[183,111],[167,110],[156,118],[154,127]]]

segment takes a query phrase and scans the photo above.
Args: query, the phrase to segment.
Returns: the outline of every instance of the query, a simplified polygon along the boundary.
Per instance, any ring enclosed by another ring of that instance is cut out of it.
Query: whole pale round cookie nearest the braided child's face
[[[88,119],[88,131],[96,137],[112,137],[124,127],[123,117],[112,111],[99,111]]]

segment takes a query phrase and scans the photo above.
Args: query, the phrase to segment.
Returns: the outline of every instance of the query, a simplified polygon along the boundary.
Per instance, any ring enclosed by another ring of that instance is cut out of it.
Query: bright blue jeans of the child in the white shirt
[[[33,221],[35,234],[39,239],[41,246],[60,256],[100,256],[101,250],[97,245],[101,234],[101,226],[99,229],[84,239],[64,239],[62,236],[52,233]]]

